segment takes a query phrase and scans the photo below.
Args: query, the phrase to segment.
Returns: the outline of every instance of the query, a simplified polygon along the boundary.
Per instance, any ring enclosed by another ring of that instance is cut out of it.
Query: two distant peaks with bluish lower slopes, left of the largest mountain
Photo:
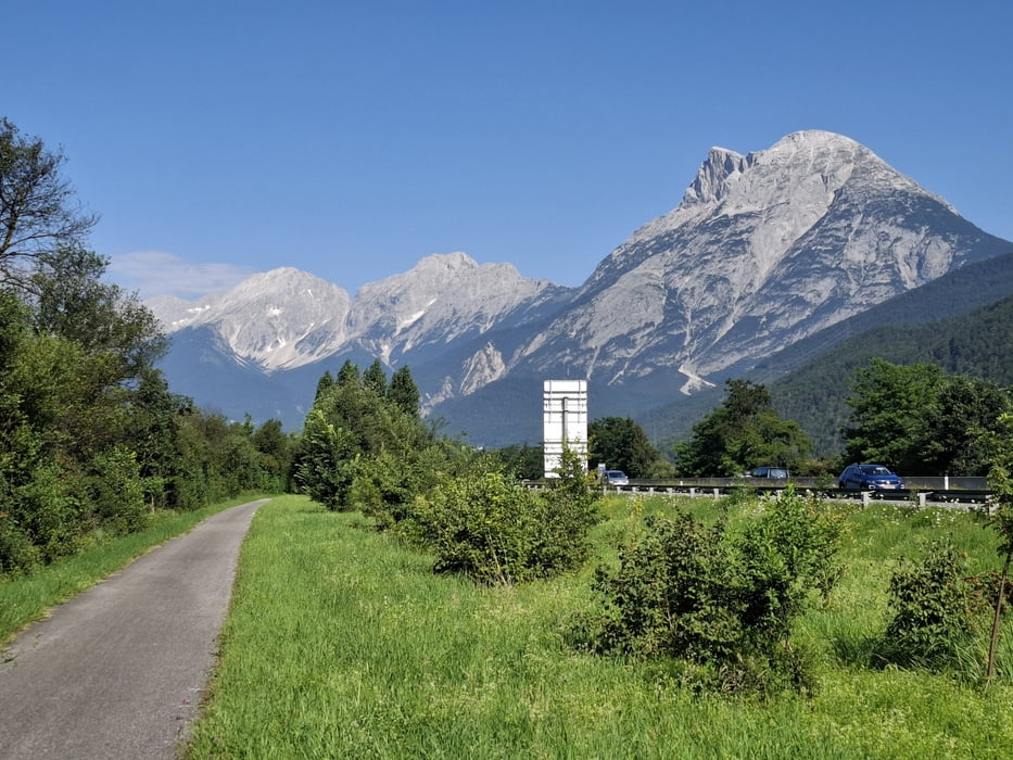
[[[354,302],[326,280],[283,267],[198,302],[154,299],[148,306],[173,339],[163,369],[174,391],[230,417],[274,417],[299,429],[319,377],[345,360],[409,364],[427,409],[467,393],[474,375],[494,377],[503,365],[495,351],[463,357],[461,344],[539,321],[572,292],[523,278],[509,264],[479,265],[453,253],[366,284]],[[453,385],[443,377],[448,362],[464,365]],[[436,368],[428,383],[417,366]]]

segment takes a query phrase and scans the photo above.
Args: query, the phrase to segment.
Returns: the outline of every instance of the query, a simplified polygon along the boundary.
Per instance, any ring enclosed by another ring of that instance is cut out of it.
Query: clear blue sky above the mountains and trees
[[[0,116],[144,296],[431,253],[580,284],[711,145],[870,148],[1013,240],[1013,3],[0,0]]]

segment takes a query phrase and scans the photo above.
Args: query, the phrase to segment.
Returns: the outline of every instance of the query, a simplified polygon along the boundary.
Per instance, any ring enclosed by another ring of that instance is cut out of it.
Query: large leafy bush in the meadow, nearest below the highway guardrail
[[[792,628],[812,591],[834,578],[839,525],[790,491],[738,530],[686,511],[650,515],[621,547],[618,569],[599,568],[598,612],[573,641],[592,650],[664,658],[723,689],[807,686]]]

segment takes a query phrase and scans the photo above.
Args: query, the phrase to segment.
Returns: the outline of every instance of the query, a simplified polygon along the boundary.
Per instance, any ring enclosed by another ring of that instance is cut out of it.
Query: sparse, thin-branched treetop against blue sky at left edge
[[[78,245],[98,221],[74,202],[60,152],[0,119],[0,282],[31,291],[31,273],[62,245]]]

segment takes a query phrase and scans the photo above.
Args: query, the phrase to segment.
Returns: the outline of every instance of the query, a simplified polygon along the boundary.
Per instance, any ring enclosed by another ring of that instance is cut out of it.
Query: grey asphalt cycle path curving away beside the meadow
[[[197,718],[239,548],[231,507],[56,607],[0,651],[0,758],[174,758]]]

